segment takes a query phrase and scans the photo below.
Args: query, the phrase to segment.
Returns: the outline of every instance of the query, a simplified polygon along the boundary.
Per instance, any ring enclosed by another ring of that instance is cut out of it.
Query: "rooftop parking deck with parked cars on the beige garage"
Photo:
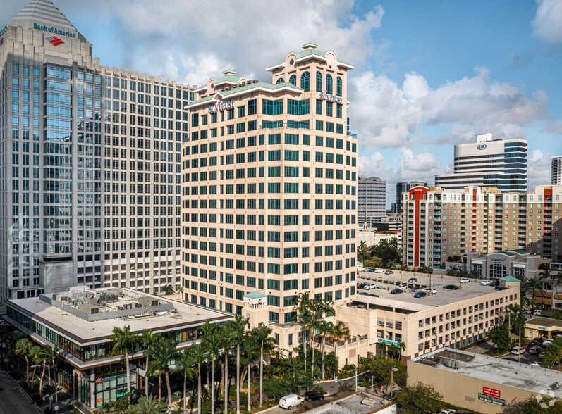
[[[467,299],[477,298],[478,296],[499,293],[499,291],[496,291],[494,287],[482,286],[480,284],[480,280],[474,282],[474,279],[471,279],[468,283],[459,283],[457,279],[441,279],[441,275],[432,275],[431,287],[436,289],[437,293],[428,294],[424,298],[415,298],[414,293],[410,292],[410,287],[412,287],[412,285],[420,286],[422,288],[429,287],[429,277],[425,274],[418,273],[415,276],[404,274],[401,278],[400,272],[396,271],[391,275],[374,272],[359,272],[357,282],[369,282],[369,277],[370,281],[377,285],[377,288],[381,289],[357,289],[356,292],[358,294],[353,298],[355,301],[379,306],[387,306],[391,308],[402,307],[404,309],[410,309],[413,311],[423,311],[425,309],[434,308],[436,306],[444,306],[449,303],[456,303],[459,301],[465,301]],[[417,279],[417,282],[414,282],[413,284],[408,283],[408,280],[410,278]],[[408,289],[405,289],[405,291],[403,291],[403,293],[401,294],[391,294],[390,292],[392,291],[392,289],[396,288],[396,286],[401,282],[403,284],[408,284]],[[444,286],[448,284],[460,286],[460,289],[444,289]],[[520,290],[518,287],[510,289],[513,289],[515,293],[519,293]],[[506,294],[510,291],[510,289],[506,289],[501,292],[503,294]],[[366,292],[368,294],[376,294],[379,297],[375,298],[374,296],[360,295],[359,293],[362,292]]]

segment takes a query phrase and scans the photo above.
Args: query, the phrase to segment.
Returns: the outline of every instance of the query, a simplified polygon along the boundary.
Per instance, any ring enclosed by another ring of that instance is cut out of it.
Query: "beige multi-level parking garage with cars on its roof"
[[[461,284],[456,277],[430,278],[419,273],[413,277],[405,272],[361,272],[359,281],[366,281],[367,277],[381,289],[362,291],[344,305],[336,306],[338,320],[359,341],[358,355],[346,355],[338,347],[336,354],[341,365],[355,363],[355,356],[384,354],[389,345],[401,349],[404,362],[444,346],[468,346],[487,337],[491,329],[503,322],[506,306],[520,303],[519,281],[503,282],[506,289],[496,290],[474,281]],[[401,294],[392,294],[400,284],[408,288]],[[459,289],[449,289],[451,285]],[[410,287],[429,286],[435,294],[427,291],[427,296],[416,298],[410,292]],[[365,338],[364,344],[361,338]],[[326,351],[332,350],[326,346]]]

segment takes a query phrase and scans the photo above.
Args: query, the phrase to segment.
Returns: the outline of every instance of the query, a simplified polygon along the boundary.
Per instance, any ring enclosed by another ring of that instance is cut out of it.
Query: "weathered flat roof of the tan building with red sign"
[[[459,361],[459,367],[449,367],[447,363],[450,360]],[[408,364],[410,363],[428,365],[439,370],[495,382],[506,387],[524,389],[557,399],[562,398],[562,389],[557,387],[558,384],[562,384],[562,372],[549,368],[451,348],[426,353],[410,359]]]

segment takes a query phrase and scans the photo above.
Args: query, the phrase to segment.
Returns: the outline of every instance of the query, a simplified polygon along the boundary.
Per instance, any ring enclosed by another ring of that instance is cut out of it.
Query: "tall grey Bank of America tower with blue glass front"
[[[179,287],[193,89],[100,65],[48,0],[0,37],[0,298]]]

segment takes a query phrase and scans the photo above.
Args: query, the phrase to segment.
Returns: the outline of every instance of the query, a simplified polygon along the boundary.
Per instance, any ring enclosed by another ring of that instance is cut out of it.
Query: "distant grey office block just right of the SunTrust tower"
[[[379,177],[359,177],[357,220],[359,227],[372,227],[386,215],[386,181]]]

